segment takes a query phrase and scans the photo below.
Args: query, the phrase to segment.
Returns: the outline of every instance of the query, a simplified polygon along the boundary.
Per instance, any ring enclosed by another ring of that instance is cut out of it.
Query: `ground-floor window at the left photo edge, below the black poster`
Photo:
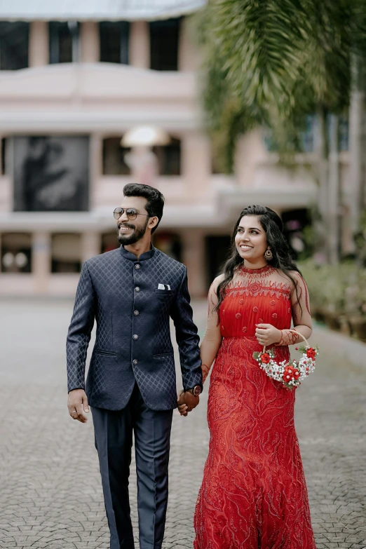
[[[3,273],[30,273],[32,237],[29,233],[1,235],[1,271]]]

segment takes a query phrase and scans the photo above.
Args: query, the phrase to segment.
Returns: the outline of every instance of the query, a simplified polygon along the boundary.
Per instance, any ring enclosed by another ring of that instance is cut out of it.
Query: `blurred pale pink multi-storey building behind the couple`
[[[1,2],[2,295],[72,295],[81,262],[118,245],[112,212],[134,180],[120,141],[133,126],[171,137],[155,149],[166,198],[155,243],[187,264],[194,296],[241,208],[262,203],[301,224],[316,201],[309,170],[280,168],[261,132],[241,138],[234,175],[219,172],[187,19],[202,0],[111,4]]]

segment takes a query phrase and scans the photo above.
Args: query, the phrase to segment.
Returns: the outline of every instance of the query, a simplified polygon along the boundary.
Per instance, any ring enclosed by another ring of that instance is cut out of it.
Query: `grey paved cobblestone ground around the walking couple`
[[[205,304],[194,309],[202,332]],[[109,549],[91,419],[76,423],[66,408],[71,312],[70,301],[0,302],[0,548]],[[321,332],[313,341],[321,345]],[[297,433],[318,549],[362,549],[366,365],[345,362],[331,347],[322,348],[317,374],[297,393]],[[193,546],[206,405],[207,390],[195,413],[174,416],[164,549]]]

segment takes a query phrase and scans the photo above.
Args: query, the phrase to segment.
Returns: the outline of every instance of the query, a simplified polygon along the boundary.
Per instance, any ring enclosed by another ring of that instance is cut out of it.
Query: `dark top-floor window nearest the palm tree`
[[[155,71],[178,70],[180,19],[150,23],[150,68]]]

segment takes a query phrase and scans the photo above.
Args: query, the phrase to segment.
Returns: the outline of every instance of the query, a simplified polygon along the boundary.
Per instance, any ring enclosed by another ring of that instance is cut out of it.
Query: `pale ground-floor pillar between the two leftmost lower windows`
[[[36,232],[32,234],[32,274],[34,277],[34,292],[46,294],[50,278],[51,253],[50,233]]]

